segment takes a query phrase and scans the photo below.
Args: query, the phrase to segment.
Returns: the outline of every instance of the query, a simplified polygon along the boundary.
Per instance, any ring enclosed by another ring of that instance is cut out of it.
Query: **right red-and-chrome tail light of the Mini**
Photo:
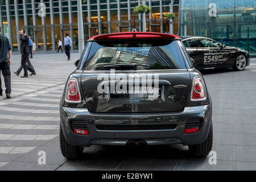
[[[205,95],[205,86],[204,86],[203,79],[200,76],[197,76],[193,80],[191,100],[203,101],[205,99],[206,99],[206,95]]]

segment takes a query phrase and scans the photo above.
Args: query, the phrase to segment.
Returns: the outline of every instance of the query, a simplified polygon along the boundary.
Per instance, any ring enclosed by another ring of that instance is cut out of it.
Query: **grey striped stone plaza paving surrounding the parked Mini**
[[[12,98],[0,97],[0,171],[256,170],[256,59],[241,72],[202,72],[213,102],[213,152],[206,158],[191,158],[188,147],[177,144],[144,150],[90,146],[82,159],[67,160],[59,148],[59,104],[77,59],[78,51],[71,52],[71,61],[65,53],[36,52],[36,75],[20,78],[13,73],[20,55],[13,53]],[[42,154],[46,164],[40,164]]]

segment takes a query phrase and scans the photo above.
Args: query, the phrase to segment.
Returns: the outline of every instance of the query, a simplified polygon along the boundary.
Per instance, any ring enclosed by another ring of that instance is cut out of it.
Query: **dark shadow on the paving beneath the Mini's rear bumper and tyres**
[[[178,164],[193,161],[188,147],[182,144],[128,148],[127,146],[90,146],[80,159],[68,160],[65,166],[82,170],[175,170]],[[207,162],[207,157],[195,159]]]

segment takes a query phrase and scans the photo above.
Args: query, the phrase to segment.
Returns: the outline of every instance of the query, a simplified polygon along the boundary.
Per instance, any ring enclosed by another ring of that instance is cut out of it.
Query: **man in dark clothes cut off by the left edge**
[[[2,27],[0,27],[0,33]],[[6,98],[11,98],[11,45],[9,39],[6,36],[0,34],[0,73],[2,71],[3,78],[5,80],[5,93]],[[3,95],[2,81],[0,78],[0,96]]]

